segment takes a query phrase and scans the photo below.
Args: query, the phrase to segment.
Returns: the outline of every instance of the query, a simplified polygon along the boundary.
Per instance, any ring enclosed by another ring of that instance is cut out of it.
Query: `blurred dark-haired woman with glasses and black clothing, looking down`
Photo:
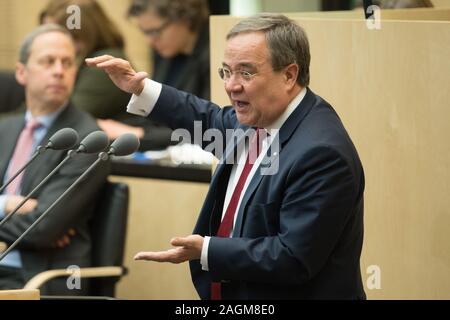
[[[209,99],[209,10],[206,0],[132,0],[128,16],[136,19],[153,49],[151,78]],[[146,118],[134,118],[129,122],[132,126],[114,120],[98,123],[110,138],[137,128],[143,130],[143,135],[139,136],[143,149],[149,149],[151,139],[164,138],[161,130],[153,129],[155,123]]]

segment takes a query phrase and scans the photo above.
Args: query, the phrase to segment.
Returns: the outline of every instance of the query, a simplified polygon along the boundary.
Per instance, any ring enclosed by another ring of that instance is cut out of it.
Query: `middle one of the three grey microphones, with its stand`
[[[39,190],[44,183],[46,183],[51,177],[55,175],[55,173],[61,168],[69,159],[73,158],[73,156],[77,153],[98,153],[106,149],[109,144],[109,139],[106,136],[106,133],[103,131],[94,131],[91,132],[84,138],[80,145],[76,150],[69,150],[67,156],[50,172],[44,180],[42,180],[33,190],[28,193],[28,195],[11,211],[10,214],[5,216],[2,221],[0,221],[0,227],[3,226],[9,219],[12,218],[14,214],[24,205],[25,202],[30,199],[37,190]]]

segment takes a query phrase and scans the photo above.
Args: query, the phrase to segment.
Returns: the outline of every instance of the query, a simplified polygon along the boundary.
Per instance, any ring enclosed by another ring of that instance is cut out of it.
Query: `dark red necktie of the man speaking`
[[[257,129],[255,135],[250,141],[250,146],[248,148],[248,155],[245,161],[244,169],[242,170],[241,176],[239,177],[238,183],[234,188],[233,195],[231,196],[230,203],[228,204],[225,215],[220,223],[219,230],[217,231],[217,237],[227,238],[230,236],[233,230],[234,216],[236,214],[236,209],[239,204],[239,199],[241,197],[242,190],[244,189],[247,177],[252,170],[253,164],[258,158],[261,152],[261,130]],[[220,282],[211,283],[211,300],[221,300],[222,299],[222,286]]]

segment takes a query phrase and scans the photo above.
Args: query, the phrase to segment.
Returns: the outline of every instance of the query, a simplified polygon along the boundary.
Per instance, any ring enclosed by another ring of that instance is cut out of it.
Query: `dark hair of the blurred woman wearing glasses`
[[[128,16],[137,17],[148,10],[171,22],[184,22],[194,32],[200,30],[209,16],[206,0],[132,0]]]

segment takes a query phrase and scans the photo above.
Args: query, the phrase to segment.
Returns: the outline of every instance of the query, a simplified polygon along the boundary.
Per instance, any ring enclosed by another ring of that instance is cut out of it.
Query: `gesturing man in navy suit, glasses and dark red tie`
[[[226,144],[194,234],[135,259],[189,260],[202,299],[365,298],[363,168],[338,115],[308,88],[309,43],[301,27],[275,14],[233,27],[219,71],[232,107],[222,109],[145,79],[126,61],[87,62],[135,94],[129,112],[191,135],[199,121],[203,133],[214,129]],[[269,136],[261,136],[262,152],[251,164],[255,128]],[[239,129],[237,142],[229,139],[228,131]],[[241,148],[247,132],[249,147]]]

